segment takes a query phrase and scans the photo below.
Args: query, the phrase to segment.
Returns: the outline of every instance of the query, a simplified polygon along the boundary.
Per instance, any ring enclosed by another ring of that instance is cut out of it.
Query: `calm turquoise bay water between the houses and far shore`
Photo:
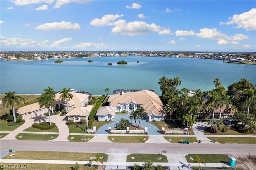
[[[223,63],[213,59],[170,57],[99,57],[43,61],[0,61],[0,93],[42,94],[48,86],[55,91],[62,87],[105,94],[110,89],[152,89],[161,94],[158,80],[165,76],[180,77],[180,89],[212,90],[216,77],[225,88],[247,78],[256,84],[256,65]],[[127,65],[117,65],[125,60]],[[136,61],[140,61],[137,63]],[[108,65],[113,63],[113,65]]]

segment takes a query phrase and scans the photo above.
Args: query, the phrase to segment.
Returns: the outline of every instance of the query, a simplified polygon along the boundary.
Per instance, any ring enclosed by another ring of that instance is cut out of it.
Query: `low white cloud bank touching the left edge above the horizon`
[[[44,47],[46,46],[46,43],[48,42],[48,40],[37,42],[31,39],[5,38],[3,36],[0,36],[0,42],[2,46],[6,45],[6,46],[20,46],[20,47],[35,47],[35,46]]]

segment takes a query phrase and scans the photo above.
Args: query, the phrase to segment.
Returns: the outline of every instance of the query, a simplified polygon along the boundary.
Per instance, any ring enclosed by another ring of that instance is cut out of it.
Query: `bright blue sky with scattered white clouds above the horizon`
[[[1,0],[2,51],[256,51],[256,2]]]

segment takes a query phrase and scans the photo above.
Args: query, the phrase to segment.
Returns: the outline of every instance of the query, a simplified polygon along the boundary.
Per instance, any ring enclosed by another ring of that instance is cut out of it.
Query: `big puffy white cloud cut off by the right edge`
[[[233,17],[228,18],[228,22],[220,22],[220,25],[230,25],[236,24],[236,28],[244,28],[246,31],[256,30],[256,8],[252,8],[248,12],[244,12],[239,15],[233,15]]]

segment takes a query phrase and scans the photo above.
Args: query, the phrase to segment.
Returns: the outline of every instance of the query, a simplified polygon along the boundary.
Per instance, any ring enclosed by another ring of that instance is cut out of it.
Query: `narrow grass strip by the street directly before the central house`
[[[129,136],[129,134],[127,136],[108,136],[108,140],[119,143],[144,143],[144,138],[148,140],[148,136]]]

